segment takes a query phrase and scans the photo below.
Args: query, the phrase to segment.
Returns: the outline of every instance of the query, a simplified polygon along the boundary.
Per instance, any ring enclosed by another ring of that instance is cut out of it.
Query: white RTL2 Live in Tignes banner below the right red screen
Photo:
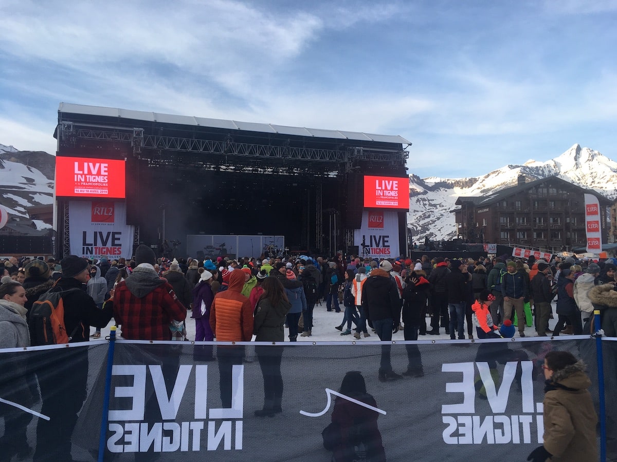
[[[362,212],[362,228],[354,230],[360,257],[399,256],[399,217],[396,211],[368,209]]]

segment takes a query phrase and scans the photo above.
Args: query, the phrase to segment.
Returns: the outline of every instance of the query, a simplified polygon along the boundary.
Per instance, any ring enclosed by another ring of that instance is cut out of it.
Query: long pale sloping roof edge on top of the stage
[[[181,116],[162,114],[157,112],[133,111],[121,108],[109,108],[99,106],[86,106],[72,103],[60,103],[59,113],[83,114],[103,117],[117,117],[128,120],[140,120],[156,123],[170,123],[189,126],[212,127],[228,130],[242,130],[265,133],[276,133],[292,136],[310,136],[318,138],[360,140],[365,142],[375,141],[380,143],[411,143],[398,135],[378,135],[371,133],[350,132],[343,130],[325,130],[315,128],[290,127],[285,125],[264,124],[254,122],[240,122],[236,120],[211,119],[205,117]]]

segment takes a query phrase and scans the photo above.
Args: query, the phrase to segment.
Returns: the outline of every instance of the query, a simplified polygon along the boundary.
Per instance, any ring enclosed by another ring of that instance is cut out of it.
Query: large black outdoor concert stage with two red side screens
[[[407,248],[400,136],[67,103],[54,136],[59,254],[131,256],[167,240],[181,257],[189,235],[230,254],[232,236],[262,237],[253,256],[275,236],[316,254]]]

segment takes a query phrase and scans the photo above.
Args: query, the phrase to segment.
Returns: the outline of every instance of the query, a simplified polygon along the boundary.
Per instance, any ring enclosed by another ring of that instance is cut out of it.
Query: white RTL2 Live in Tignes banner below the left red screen
[[[126,203],[70,201],[68,213],[73,255],[109,260],[133,256],[135,228],[126,224]]]

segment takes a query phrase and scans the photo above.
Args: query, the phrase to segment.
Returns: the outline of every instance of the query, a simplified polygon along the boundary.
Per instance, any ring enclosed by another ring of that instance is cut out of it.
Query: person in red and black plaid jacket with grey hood
[[[122,325],[122,337],[130,340],[171,340],[169,326],[186,318],[186,308],[172,286],[159,278],[151,248],[140,245],[135,251],[137,267],[114,291],[114,318]]]

